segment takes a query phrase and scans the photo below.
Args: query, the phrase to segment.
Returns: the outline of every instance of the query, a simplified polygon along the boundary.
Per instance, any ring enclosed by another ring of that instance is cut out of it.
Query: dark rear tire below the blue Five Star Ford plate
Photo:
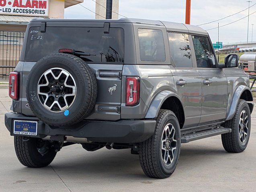
[[[23,136],[14,136],[14,148],[21,164],[27,167],[39,168],[45,167],[53,161],[56,152],[49,141],[43,141],[39,138],[23,140],[23,138]],[[41,153],[37,149],[38,147]]]

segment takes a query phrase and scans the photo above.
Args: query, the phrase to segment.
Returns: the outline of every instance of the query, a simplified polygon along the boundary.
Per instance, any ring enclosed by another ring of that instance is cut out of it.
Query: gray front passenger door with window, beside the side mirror
[[[227,78],[207,36],[193,35],[197,70],[202,79],[202,112],[199,125],[221,122],[227,109]]]

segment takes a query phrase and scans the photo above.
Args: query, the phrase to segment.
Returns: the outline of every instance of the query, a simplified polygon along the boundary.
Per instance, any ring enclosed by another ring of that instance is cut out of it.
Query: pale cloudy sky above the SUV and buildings
[[[199,25],[211,22],[248,8],[247,0],[191,0],[190,24]],[[250,5],[256,3],[256,0]],[[95,12],[95,2],[84,0],[83,6]],[[185,22],[186,0],[119,0],[119,14],[128,18],[142,18],[152,20],[164,20],[171,22]],[[71,6],[65,9],[64,18],[67,19],[94,19],[95,14],[86,10],[80,5]],[[250,8],[249,17],[249,42],[256,41],[256,5]],[[248,9],[234,16],[219,21],[219,26],[236,21],[248,15]],[[122,18],[122,16],[119,16]],[[207,30],[218,26],[218,22],[201,26]],[[232,42],[247,41],[248,17],[233,24],[219,28],[219,41],[223,44]],[[207,31],[213,43],[218,40],[218,29]]]

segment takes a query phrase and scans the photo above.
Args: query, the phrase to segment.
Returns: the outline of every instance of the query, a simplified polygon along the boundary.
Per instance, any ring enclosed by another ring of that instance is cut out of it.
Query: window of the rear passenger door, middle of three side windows
[[[171,62],[176,67],[193,67],[188,34],[168,32]]]

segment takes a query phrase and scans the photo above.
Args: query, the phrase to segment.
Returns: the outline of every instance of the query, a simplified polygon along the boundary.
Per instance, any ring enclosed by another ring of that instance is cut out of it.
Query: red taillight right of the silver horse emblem
[[[134,106],[139,102],[139,77],[126,78],[126,102],[127,106]]]

